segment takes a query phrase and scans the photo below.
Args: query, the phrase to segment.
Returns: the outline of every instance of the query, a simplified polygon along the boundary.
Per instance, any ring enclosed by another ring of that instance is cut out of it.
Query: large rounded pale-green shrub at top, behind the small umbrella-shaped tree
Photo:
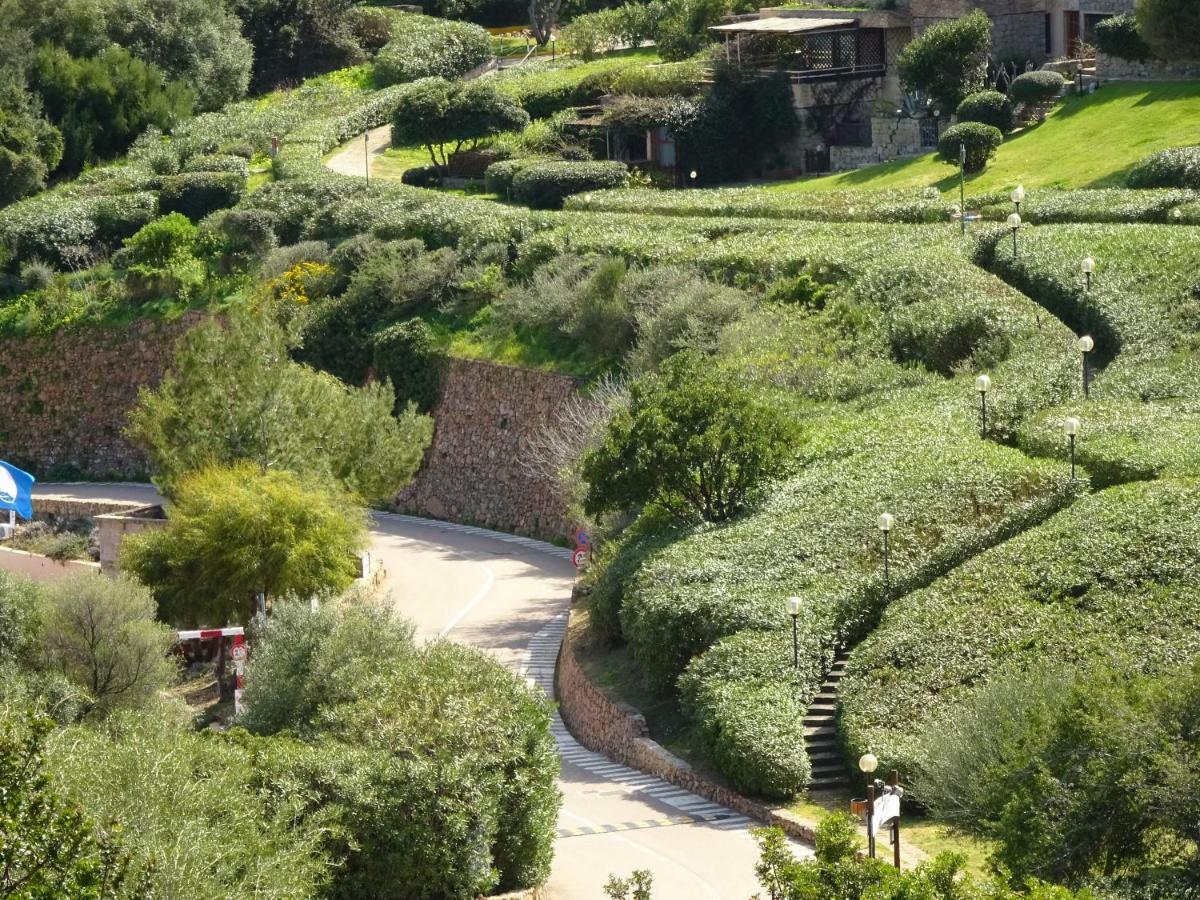
[[[376,58],[382,85],[438,77],[452,80],[492,59],[491,36],[479,25],[398,14],[392,38]]]

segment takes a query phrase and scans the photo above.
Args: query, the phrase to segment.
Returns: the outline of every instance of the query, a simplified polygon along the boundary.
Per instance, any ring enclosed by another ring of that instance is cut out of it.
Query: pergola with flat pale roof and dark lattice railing
[[[713,25],[709,31],[725,36],[726,59],[763,70],[782,61],[794,80],[884,70],[883,32],[859,28],[858,19],[770,16]]]

